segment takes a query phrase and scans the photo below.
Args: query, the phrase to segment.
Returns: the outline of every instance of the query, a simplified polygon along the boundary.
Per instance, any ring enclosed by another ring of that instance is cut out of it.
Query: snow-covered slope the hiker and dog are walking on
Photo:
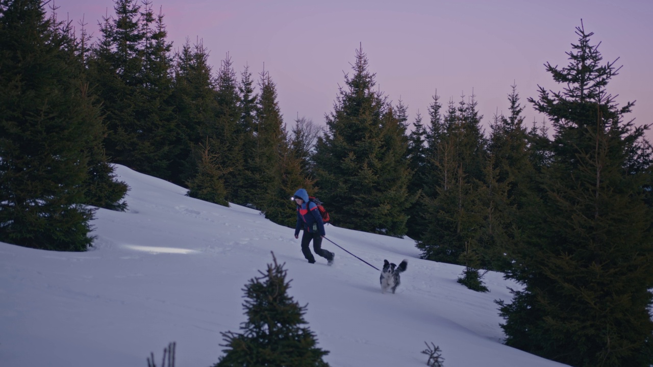
[[[333,266],[309,264],[294,230],[255,210],[185,197],[122,166],[116,173],[131,187],[129,208],[96,212],[88,252],[0,242],[0,366],[146,367],[170,342],[177,367],[211,366],[220,332],[246,321],[242,289],[272,263],[270,251],[333,367],[425,366],[424,342],[439,345],[447,367],[563,366],[502,344],[493,301],[509,300],[515,285],[501,274],[486,274],[490,293],[476,293],[456,283],[461,266],[419,259],[408,238],[327,225],[327,238],[377,268],[408,260],[397,293],[383,295],[377,270],[326,240]]]

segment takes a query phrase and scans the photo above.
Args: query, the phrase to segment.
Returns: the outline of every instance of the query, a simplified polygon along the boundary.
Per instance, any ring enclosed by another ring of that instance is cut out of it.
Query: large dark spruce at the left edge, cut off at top
[[[84,251],[93,240],[82,202],[104,130],[71,35],[43,1],[0,1],[0,241]]]

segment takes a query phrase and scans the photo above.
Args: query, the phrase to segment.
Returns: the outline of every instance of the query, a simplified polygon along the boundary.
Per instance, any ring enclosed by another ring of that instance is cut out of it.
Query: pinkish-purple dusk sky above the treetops
[[[112,14],[112,0],[56,0],[59,19],[85,17],[94,40],[97,22]],[[404,0],[404,1],[198,1],[153,0],[163,8],[168,40],[178,49],[188,37],[202,39],[217,71],[227,52],[240,73],[270,72],[284,121],[297,114],[324,125],[362,43],[369,69],[389,99],[402,99],[413,122],[419,110],[428,122],[436,89],[446,106],[473,93],[488,126],[507,113],[507,94],[517,84],[528,126],[542,121],[526,101],[537,85],[552,91],[543,66],[566,66],[575,27],[594,32],[604,63],[620,57],[609,84],[621,105],[637,100],[629,118],[650,124],[653,116],[652,0]],[[79,26],[77,26],[79,27]],[[653,132],[648,131],[649,140]]]

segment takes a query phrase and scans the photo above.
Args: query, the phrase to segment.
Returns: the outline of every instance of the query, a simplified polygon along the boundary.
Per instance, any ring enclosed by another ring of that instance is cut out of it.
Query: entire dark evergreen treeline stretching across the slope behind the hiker
[[[520,283],[497,301],[507,344],[573,366],[653,362],[653,150],[582,26],[569,65],[546,64],[563,91],[528,99],[552,131],[526,126],[515,85],[488,132],[475,95],[436,92],[411,123],[362,47],[320,129],[283,121],[267,71],[229,54],[214,71],[200,40],[173,50],[149,0],[116,0],[96,40],[43,7],[0,0],[1,241],[86,249],[92,206],[127,205],[109,162],[289,227],[304,187],[334,225],[463,265],[470,289],[487,291],[486,270]]]

